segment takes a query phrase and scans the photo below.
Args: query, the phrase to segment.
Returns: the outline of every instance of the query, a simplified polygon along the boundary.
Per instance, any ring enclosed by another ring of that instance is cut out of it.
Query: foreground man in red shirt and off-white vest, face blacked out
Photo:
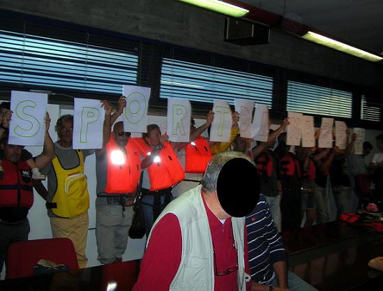
[[[250,290],[244,216],[258,201],[254,177],[243,154],[214,156],[202,185],[170,202],[154,223],[133,290]]]

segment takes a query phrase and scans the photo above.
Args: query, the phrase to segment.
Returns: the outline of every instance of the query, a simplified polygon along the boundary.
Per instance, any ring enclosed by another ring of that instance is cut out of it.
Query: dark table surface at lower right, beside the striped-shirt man
[[[368,267],[370,259],[383,256],[383,234],[333,221],[282,237],[290,270],[320,291],[383,286],[383,273]]]

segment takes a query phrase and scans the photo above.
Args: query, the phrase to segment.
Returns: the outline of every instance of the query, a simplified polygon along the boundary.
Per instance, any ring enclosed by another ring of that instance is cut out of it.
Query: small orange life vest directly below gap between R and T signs
[[[197,137],[186,146],[185,152],[185,172],[204,173],[212,157],[206,138]]]

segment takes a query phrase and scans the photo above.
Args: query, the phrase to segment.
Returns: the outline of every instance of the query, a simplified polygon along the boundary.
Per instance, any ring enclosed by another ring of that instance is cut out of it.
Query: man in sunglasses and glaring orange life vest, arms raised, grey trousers
[[[96,149],[96,242],[98,260],[103,264],[122,261],[141,172],[140,154],[130,133],[123,130],[123,121],[114,124],[110,132],[126,106],[125,98],[117,104],[111,117],[112,106],[103,101],[103,148]]]

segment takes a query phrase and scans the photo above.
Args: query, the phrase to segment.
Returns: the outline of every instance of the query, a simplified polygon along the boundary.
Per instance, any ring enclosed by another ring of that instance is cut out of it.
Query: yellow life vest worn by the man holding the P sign
[[[57,189],[54,193],[52,203],[57,204],[57,208],[52,208],[56,216],[71,218],[83,214],[89,209],[89,193],[87,187],[87,177],[84,174],[84,157],[82,152],[73,149],[80,160],[80,165],[72,169],[64,169],[55,156],[52,166],[56,174]]]

